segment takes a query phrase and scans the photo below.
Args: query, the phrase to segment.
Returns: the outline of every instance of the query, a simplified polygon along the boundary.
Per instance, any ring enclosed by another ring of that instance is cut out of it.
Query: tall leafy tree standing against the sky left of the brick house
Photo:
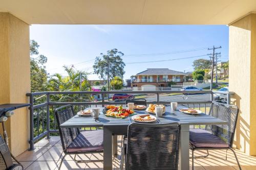
[[[93,68],[94,73],[99,75],[101,79],[106,80],[108,77],[108,65],[109,65],[109,77],[110,80],[118,76],[123,78],[125,73],[124,66],[125,63],[121,58],[123,56],[122,52],[119,52],[116,48],[106,52],[106,54],[100,54],[101,56],[96,57]]]

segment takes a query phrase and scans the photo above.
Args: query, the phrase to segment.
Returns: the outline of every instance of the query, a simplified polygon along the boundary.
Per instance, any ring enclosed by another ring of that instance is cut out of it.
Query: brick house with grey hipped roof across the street
[[[133,87],[167,87],[169,82],[184,82],[185,73],[168,68],[147,68],[136,74]]]

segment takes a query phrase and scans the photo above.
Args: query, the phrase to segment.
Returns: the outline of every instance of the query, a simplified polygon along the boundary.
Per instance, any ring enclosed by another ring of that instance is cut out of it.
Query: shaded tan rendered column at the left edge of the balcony
[[[0,13],[0,104],[28,103],[30,92],[29,25],[9,13]],[[17,109],[6,122],[14,155],[28,149],[28,109]],[[2,130],[2,126],[0,128]]]

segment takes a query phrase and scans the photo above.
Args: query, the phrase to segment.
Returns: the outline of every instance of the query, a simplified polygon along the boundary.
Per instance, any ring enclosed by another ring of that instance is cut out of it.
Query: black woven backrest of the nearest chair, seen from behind
[[[178,169],[179,142],[178,123],[130,124],[125,169]]]

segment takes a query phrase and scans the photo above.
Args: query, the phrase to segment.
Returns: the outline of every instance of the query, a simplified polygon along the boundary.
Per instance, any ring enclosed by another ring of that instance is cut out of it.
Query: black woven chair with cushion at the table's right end
[[[236,157],[241,169],[237,155],[232,149],[234,131],[236,130],[239,109],[236,106],[212,103],[209,115],[225,120],[227,125],[206,125],[205,129],[190,129],[189,145],[192,150],[192,166],[194,169],[194,151],[207,150],[231,150]],[[196,158],[196,157],[195,157]],[[227,155],[226,155],[227,160]]]

